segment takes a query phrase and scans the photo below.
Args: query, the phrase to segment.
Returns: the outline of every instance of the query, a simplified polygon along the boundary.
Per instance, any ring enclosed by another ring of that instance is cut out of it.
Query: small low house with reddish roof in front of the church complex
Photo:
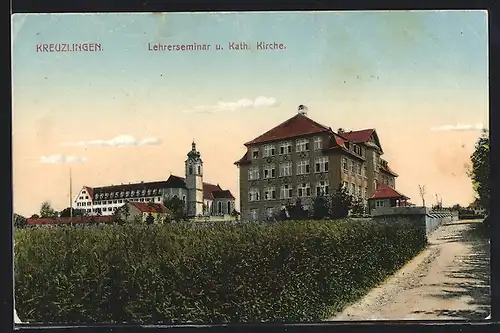
[[[132,201],[127,201],[123,206],[118,208],[116,215],[126,222],[146,222],[150,215],[153,216],[155,222],[171,217],[171,213],[167,207],[160,203]]]

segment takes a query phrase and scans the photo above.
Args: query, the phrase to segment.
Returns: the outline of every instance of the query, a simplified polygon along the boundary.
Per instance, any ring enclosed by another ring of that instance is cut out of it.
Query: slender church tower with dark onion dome
[[[196,143],[191,144],[191,151],[187,154],[186,164],[186,208],[188,217],[203,214],[203,161],[200,152],[196,150]]]

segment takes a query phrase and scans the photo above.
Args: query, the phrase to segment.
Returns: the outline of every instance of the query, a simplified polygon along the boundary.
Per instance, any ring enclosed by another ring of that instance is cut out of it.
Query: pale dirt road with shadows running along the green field
[[[456,221],[361,301],[330,320],[485,319],[490,314],[490,248],[480,221]]]

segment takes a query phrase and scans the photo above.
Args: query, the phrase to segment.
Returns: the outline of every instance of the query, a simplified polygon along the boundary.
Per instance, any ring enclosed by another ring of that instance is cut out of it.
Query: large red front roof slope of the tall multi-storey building
[[[323,126],[307,116],[297,113],[292,118],[273,127],[252,141],[245,143],[245,146],[329,131],[331,131],[329,127]]]

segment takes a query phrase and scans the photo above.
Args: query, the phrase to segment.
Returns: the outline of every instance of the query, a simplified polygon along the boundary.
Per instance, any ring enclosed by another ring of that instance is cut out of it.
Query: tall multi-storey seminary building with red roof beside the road
[[[334,132],[310,119],[302,105],[245,146],[235,162],[242,219],[265,219],[297,197],[308,209],[316,195],[341,185],[366,205],[379,184],[395,188],[398,176],[381,158],[375,129]]]

